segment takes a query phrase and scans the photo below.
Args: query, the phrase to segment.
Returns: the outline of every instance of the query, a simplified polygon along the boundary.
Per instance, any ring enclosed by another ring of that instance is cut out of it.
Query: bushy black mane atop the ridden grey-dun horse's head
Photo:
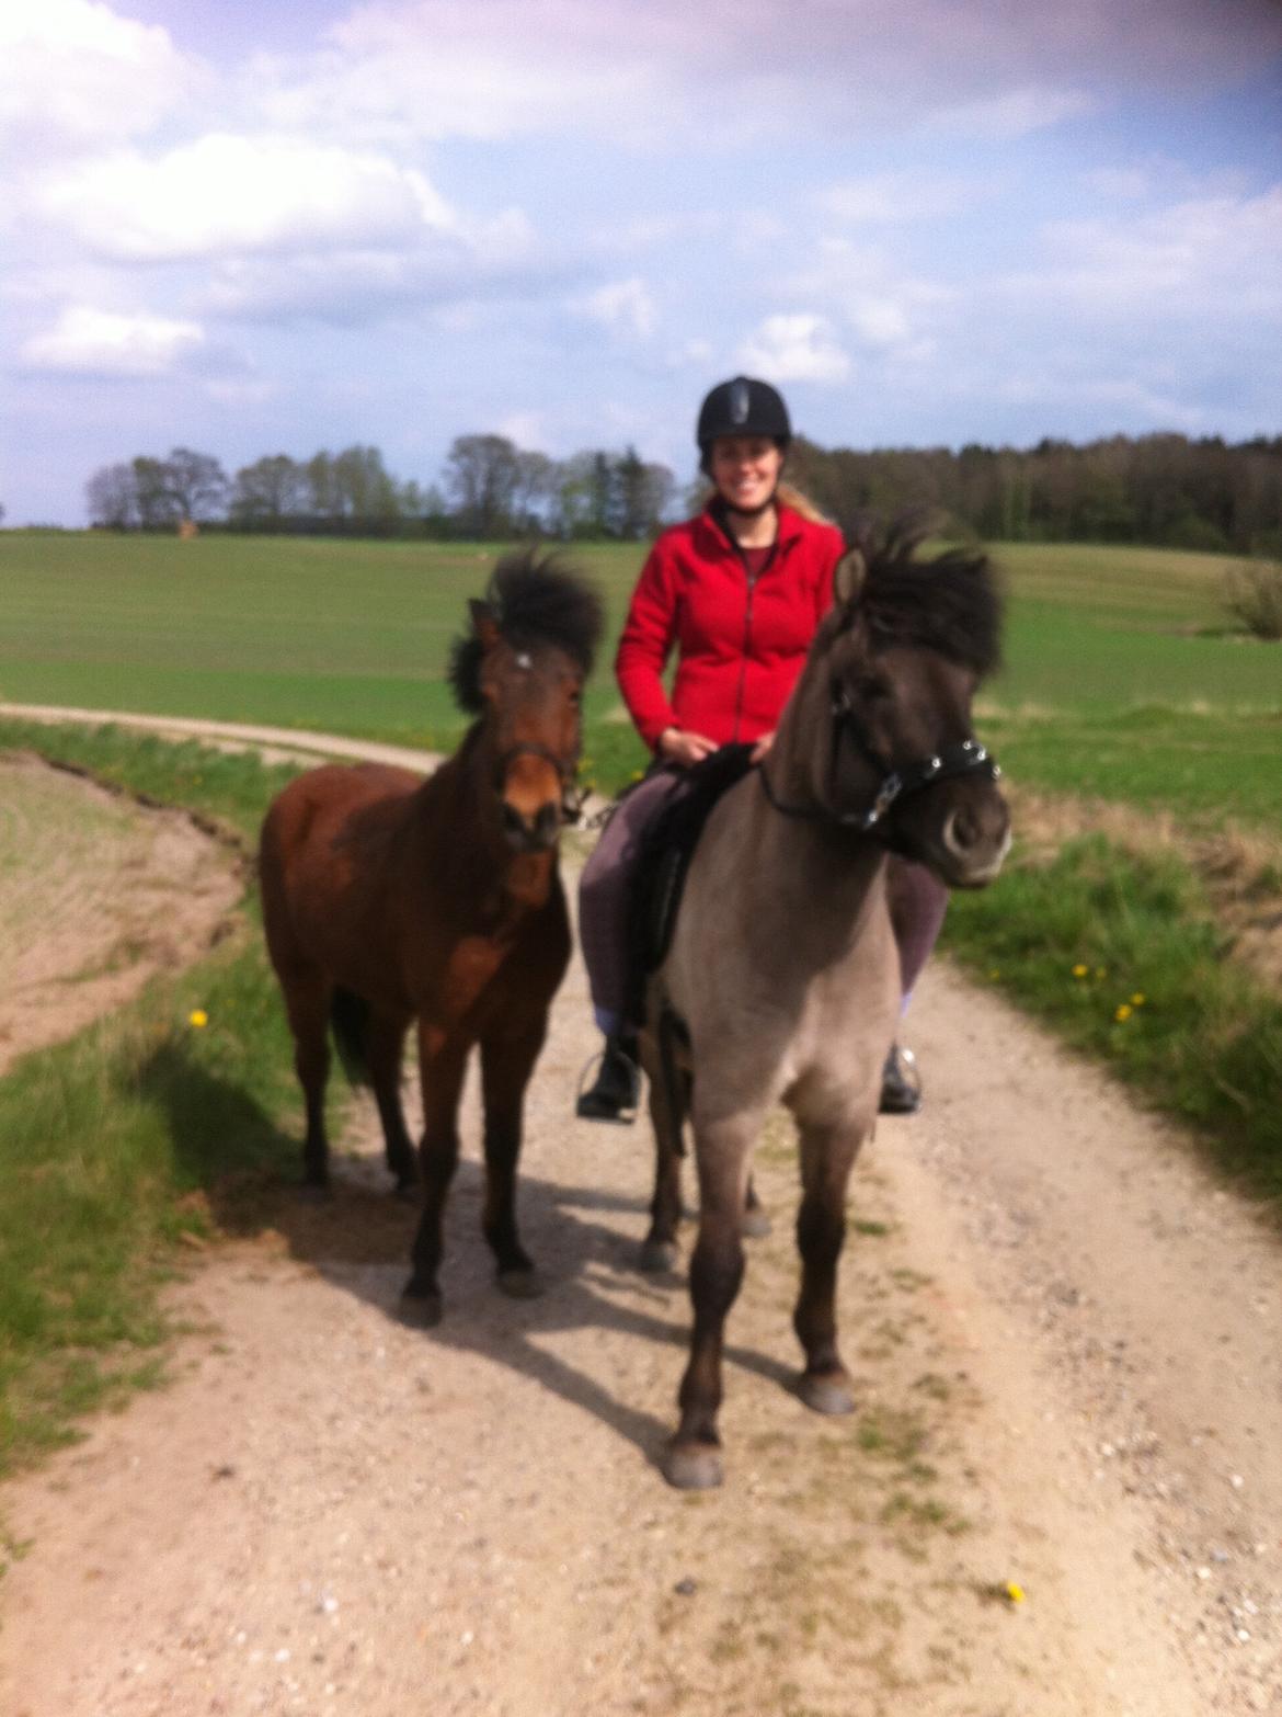
[[[860,519],[851,546],[865,563],[851,618],[862,613],[877,644],[932,649],[963,668],[989,675],[1002,656],[1002,592],[992,561],[978,548],[947,548],[918,560],[934,520],[901,513],[889,531]]]

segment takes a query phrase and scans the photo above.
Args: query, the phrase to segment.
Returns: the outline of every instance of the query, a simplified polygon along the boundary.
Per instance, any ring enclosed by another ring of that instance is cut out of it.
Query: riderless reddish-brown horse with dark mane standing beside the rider
[[[517,1233],[522,1102],[570,958],[558,872],[563,802],[580,747],[580,695],[601,604],[534,555],[494,570],[470,603],[450,678],[477,714],[458,752],[422,780],[378,764],[312,769],[263,824],[268,951],[307,1102],[305,1178],[328,1183],[328,1028],[378,1099],[388,1168],[415,1180],[400,1104],[410,1022],[419,1028],[424,1210],[403,1307],[441,1315],[441,1217],[458,1164],[458,1097],[481,1044],[484,1233],[499,1286],[537,1291]]]

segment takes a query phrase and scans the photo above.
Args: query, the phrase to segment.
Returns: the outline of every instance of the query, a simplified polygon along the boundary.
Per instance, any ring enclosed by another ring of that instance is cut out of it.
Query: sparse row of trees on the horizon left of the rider
[[[439,486],[402,482],[376,446],[305,460],[273,453],[230,477],[211,453],[175,446],[166,458],[96,470],[86,501],[89,524],[108,531],[172,531],[190,520],[316,536],[644,539],[662,524],[673,489],[671,470],[632,446],[556,460],[506,436],[463,434]]]

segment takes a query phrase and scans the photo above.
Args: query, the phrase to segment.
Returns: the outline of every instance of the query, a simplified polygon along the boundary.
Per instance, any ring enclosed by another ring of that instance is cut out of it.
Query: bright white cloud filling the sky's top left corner
[[[27,148],[146,132],[199,82],[166,29],[94,0],[0,7],[0,129]]]

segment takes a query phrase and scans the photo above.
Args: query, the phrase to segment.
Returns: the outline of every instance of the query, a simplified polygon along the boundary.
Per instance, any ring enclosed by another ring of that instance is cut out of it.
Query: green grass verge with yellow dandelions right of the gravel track
[[[954,895],[944,944],[1153,1107],[1193,1123],[1244,1190],[1282,1200],[1282,996],[1231,958],[1231,936],[1176,852],[1102,834],[997,888]]]

